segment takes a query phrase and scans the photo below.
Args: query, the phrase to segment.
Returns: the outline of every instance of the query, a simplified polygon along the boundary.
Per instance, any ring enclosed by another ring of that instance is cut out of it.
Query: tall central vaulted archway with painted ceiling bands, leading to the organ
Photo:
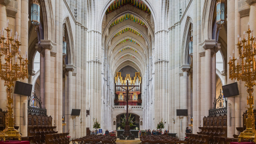
[[[119,113],[118,108],[126,106],[124,90],[115,86],[125,85],[126,80],[129,80],[129,85],[139,85],[129,95],[129,108],[143,115],[146,115],[143,111],[148,111],[146,107],[142,107],[146,105],[146,99],[151,94],[145,88],[149,87],[146,83],[149,83],[153,69],[155,23],[152,14],[147,2],[141,0],[116,0],[106,9],[102,21],[102,45],[105,47],[105,77],[111,80],[105,83],[104,89],[111,89],[106,93],[105,99],[114,103],[114,109],[109,113]],[[116,118],[112,116],[111,120]],[[113,124],[113,121],[109,123]],[[118,125],[117,121],[119,120],[116,119]],[[133,128],[135,127],[131,130]]]

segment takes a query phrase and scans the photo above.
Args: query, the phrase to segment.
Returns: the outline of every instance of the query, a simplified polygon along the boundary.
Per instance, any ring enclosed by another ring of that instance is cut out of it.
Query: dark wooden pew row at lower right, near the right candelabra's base
[[[227,137],[211,137],[210,135],[203,135],[203,134],[192,134],[186,133],[187,138],[185,141],[188,144],[194,143],[201,143],[201,144],[214,144],[214,143],[223,143],[229,144],[230,142],[237,142],[237,139],[234,138],[227,138]]]

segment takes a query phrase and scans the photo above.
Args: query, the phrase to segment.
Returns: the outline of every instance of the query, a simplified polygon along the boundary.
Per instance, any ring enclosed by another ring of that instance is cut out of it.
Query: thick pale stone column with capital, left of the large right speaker
[[[204,77],[205,77],[205,81],[204,81],[204,97],[205,97],[205,103],[201,106],[203,106],[204,111],[201,115],[207,116],[209,115],[209,109],[212,105],[212,94],[211,94],[211,82],[213,81],[213,79],[211,78],[212,75],[212,71],[211,71],[211,51],[214,49],[214,46],[217,43],[215,42],[215,39],[205,39],[204,43],[203,43],[203,48],[205,49],[205,66],[204,66]],[[215,73],[215,71],[213,72]],[[202,119],[201,119],[202,120]]]

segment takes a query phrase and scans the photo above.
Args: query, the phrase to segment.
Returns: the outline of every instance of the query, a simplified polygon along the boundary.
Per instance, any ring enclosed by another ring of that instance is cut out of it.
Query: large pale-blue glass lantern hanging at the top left
[[[35,26],[35,30],[37,30],[40,25],[40,4],[38,0],[31,2],[31,23]]]

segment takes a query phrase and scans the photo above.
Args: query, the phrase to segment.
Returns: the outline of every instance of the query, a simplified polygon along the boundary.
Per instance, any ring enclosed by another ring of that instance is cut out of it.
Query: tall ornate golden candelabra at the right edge
[[[248,23],[249,25],[249,23]],[[245,34],[248,34],[248,37],[245,38]],[[256,60],[256,44],[255,37],[252,36],[252,30],[249,28],[244,32],[244,38],[242,39],[238,35],[237,48],[239,51],[240,58],[234,58],[230,54],[229,64],[229,78],[236,79],[237,81],[241,80],[245,82],[247,87],[247,118],[246,118],[246,130],[241,132],[238,136],[238,141],[241,140],[250,140],[256,142],[256,131],[254,128],[254,115],[253,115],[253,86],[256,84],[256,70],[255,70],[255,60]],[[237,61],[237,64],[235,63]]]

